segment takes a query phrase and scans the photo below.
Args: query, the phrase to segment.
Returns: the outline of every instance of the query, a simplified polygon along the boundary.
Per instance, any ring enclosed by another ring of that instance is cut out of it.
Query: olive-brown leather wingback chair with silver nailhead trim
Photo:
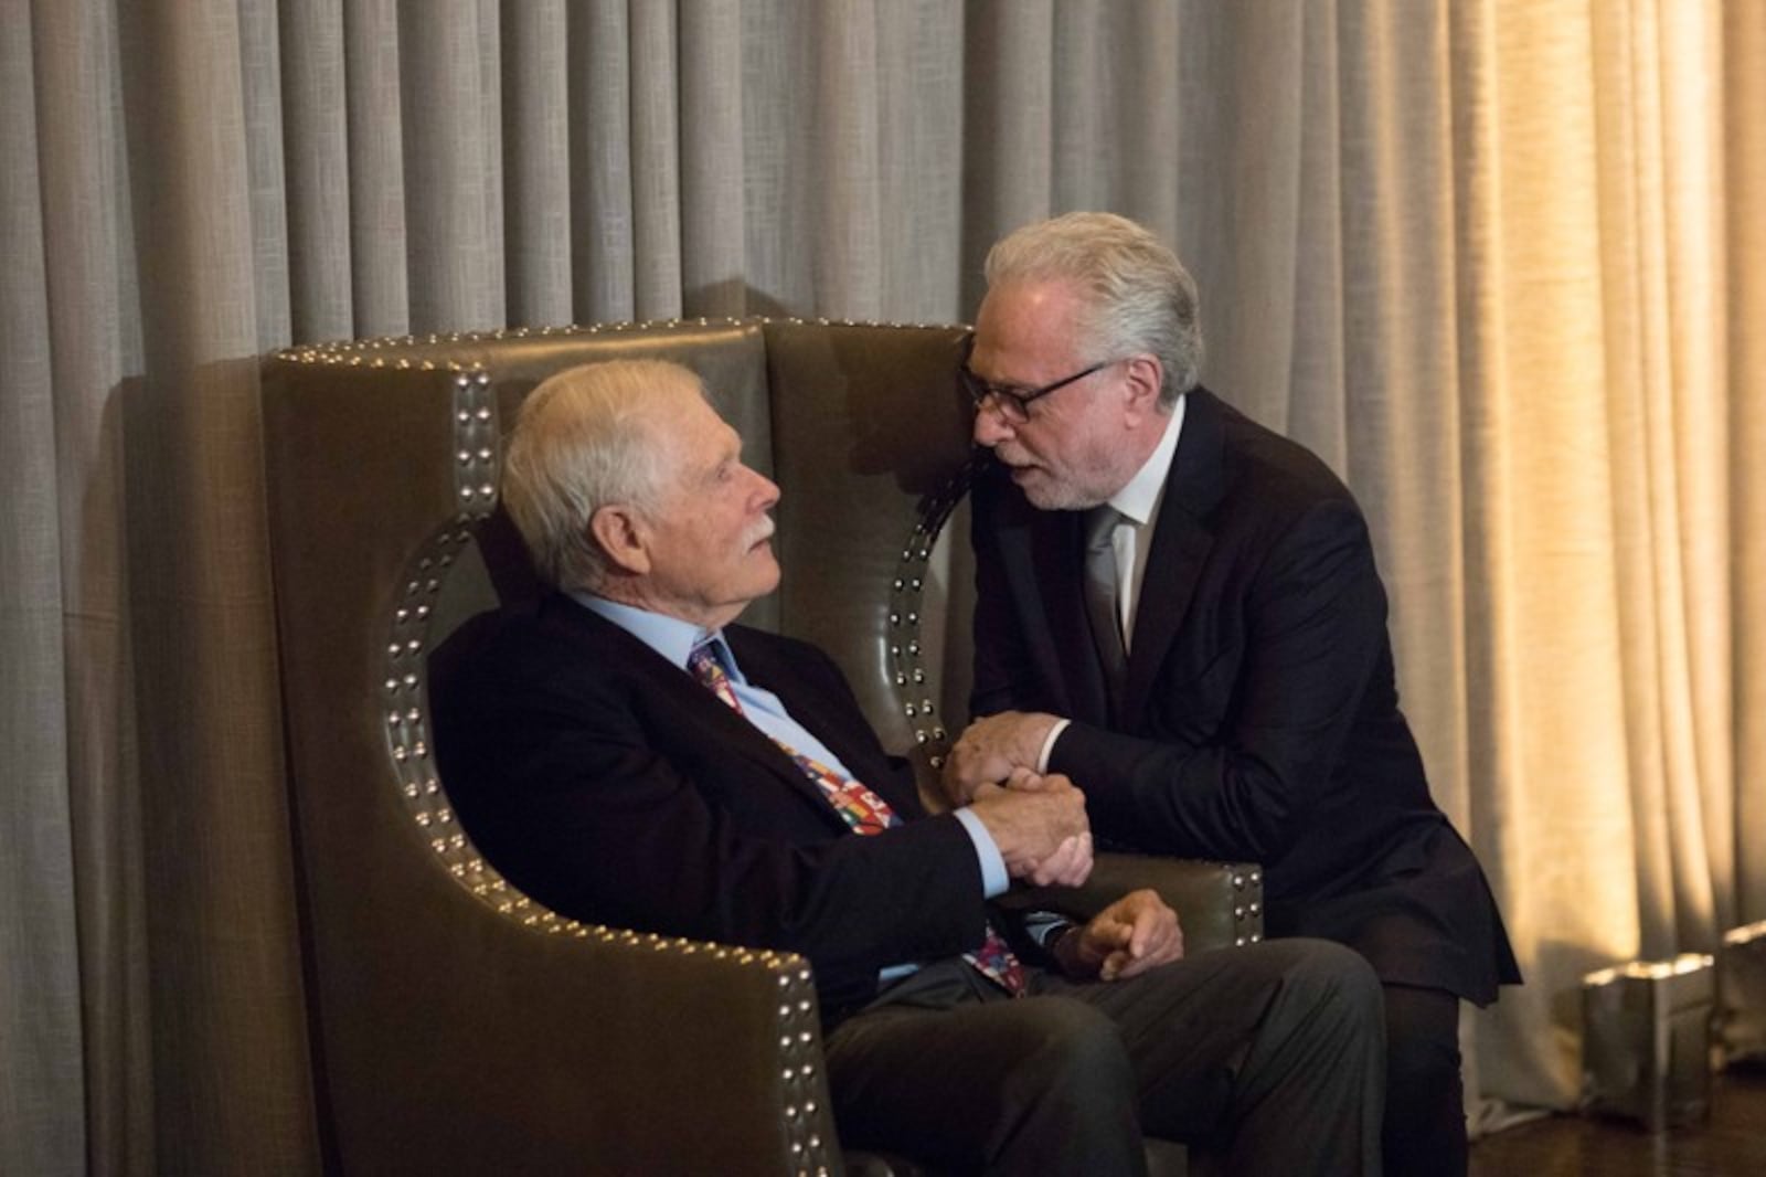
[[[535,592],[496,511],[502,431],[562,368],[698,371],[782,488],[779,592],[922,779],[964,721],[973,596],[962,327],[669,322],[302,346],[265,361],[270,535],[309,1023],[350,1173],[913,1172],[842,1154],[809,963],[581,924],[473,850],[431,758],[426,656]],[[1190,953],[1261,935],[1249,864],[1100,855]],[[1183,1150],[1150,1142],[1155,1172]]]

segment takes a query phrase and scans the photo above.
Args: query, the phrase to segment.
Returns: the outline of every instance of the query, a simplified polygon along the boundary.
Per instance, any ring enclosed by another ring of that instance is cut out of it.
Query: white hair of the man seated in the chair
[[[546,583],[600,583],[608,555],[588,530],[600,507],[655,511],[668,475],[655,399],[671,389],[705,396],[680,364],[611,361],[547,376],[523,401],[503,449],[502,495]]]

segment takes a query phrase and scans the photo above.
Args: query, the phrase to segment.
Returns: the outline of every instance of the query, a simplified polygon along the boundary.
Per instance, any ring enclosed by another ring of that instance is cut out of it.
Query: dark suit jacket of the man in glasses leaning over
[[[1272,935],[1346,942],[1385,981],[1478,1002],[1519,981],[1483,875],[1429,795],[1367,525],[1324,463],[1189,394],[1116,716],[1081,513],[1031,507],[1003,467],[973,511],[971,710],[1072,718],[1049,767],[1084,788],[1102,838],[1263,862]]]

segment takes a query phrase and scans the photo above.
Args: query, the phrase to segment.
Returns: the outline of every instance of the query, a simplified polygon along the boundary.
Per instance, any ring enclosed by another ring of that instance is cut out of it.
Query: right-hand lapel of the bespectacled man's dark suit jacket
[[[1128,686],[1123,700],[1128,728],[1139,726],[1153,677],[1176,640],[1201,578],[1213,532],[1204,523],[1226,493],[1220,401],[1203,387],[1190,391],[1183,433],[1171,458],[1166,495],[1153,525],[1153,543],[1141,580],[1128,650]]]

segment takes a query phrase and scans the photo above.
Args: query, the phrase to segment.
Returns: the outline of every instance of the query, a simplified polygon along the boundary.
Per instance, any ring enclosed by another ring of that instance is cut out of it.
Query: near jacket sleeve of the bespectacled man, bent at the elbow
[[[1272,862],[1319,809],[1386,650],[1385,590],[1353,500],[1300,514],[1243,596],[1217,604],[1224,649],[1155,684],[1150,739],[1074,723],[1049,767],[1086,790],[1100,831]]]

